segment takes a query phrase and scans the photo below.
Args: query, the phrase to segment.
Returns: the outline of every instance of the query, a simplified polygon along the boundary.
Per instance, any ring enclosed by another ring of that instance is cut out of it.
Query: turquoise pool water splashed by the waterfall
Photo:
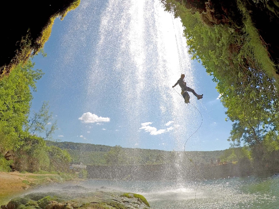
[[[279,176],[207,180],[201,181],[198,188],[194,181],[89,180],[82,185],[143,194],[154,209],[279,208]]]

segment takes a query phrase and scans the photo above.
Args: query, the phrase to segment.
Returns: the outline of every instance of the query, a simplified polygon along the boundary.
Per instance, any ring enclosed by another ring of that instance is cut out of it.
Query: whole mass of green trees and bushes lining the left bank
[[[43,75],[42,70],[33,70],[34,64],[29,60],[18,65],[0,81],[0,153],[16,150],[15,162],[0,157],[0,170],[11,171],[10,165],[14,163],[19,171],[67,171],[71,161],[69,153],[48,147],[44,141],[52,139],[57,129],[56,121],[48,126],[52,119],[48,102],[43,102],[38,113],[34,112],[28,120],[33,99],[31,90],[36,91],[36,83]],[[41,133],[45,133],[44,138],[36,135]]]

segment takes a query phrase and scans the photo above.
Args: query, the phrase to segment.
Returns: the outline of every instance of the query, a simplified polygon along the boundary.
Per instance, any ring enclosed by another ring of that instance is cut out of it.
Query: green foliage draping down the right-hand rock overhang
[[[187,3],[175,0],[162,3],[167,11],[181,18],[189,54],[201,61],[206,72],[213,76],[228,118],[251,131],[258,126],[277,127],[279,101],[275,78],[278,75],[241,1],[237,5],[243,16],[242,26],[209,26],[203,21],[203,14],[186,8]]]

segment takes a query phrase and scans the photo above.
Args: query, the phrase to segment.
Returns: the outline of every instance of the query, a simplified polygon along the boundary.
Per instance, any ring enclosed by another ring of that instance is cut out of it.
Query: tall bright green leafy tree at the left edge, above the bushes
[[[33,98],[30,88],[36,91],[36,83],[43,75],[33,67],[29,60],[0,81],[0,152],[17,150],[28,135],[22,126],[27,122]]]

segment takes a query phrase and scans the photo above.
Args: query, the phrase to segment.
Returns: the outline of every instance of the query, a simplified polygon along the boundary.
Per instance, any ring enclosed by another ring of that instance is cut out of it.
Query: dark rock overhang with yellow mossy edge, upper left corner
[[[80,0],[6,1],[1,5],[0,79],[37,53],[48,40],[53,21],[76,8]]]

